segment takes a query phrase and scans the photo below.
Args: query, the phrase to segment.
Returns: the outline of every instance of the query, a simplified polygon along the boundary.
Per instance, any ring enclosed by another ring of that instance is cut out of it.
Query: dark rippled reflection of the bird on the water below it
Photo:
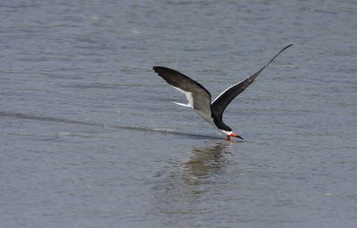
[[[157,173],[161,180],[153,188],[155,211],[169,215],[170,223],[172,216],[201,213],[199,205],[205,200],[204,196],[216,194],[210,191],[220,189],[216,185],[221,182],[221,174],[233,161],[231,147],[230,142],[218,142],[213,146],[193,148],[186,162],[172,162]]]

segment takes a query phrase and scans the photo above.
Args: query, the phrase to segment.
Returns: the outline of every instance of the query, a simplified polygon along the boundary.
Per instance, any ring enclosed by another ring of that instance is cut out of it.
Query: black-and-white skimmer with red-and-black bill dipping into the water
[[[232,131],[226,123],[223,122],[223,112],[229,103],[237,97],[238,94],[243,92],[248,86],[250,86],[256,77],[265,69],[273,60],[282,53],[288,45],[284,47],[277,55],[272,57],[269,63],[265,64],[261,70],[255,72],[252,76],[238,82],[237,84],[224,90],[220,96],[215,98],[211,102],[211,94],[205,89],[200,83],[191,78],[187,77],[185,74],[177,72],[167,67],[154,66],[154,72],[157,72],[163,80],[166,80],[174,89],[178,89],[180,92],[184,93],[187,97],[188,104],[175,103],[179,106],[191,107],[199,114],[206,122],[210,122],[213,126],[217,127],[219,131],[227,135],[227,139],[230,137],[236,137],[243,139],[236,133]]]

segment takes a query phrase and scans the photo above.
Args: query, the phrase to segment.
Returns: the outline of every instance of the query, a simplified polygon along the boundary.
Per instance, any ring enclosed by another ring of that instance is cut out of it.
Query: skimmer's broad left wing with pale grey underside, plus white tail
[[[167,67],[154,66],[153,70],[157,72],[163,80],[166,80],[170,86],[186,95],[188,100],[187,105],[174,102],[175,104],[194,108],[195,112],[200,114],[205,120],[206,118],[211,118],[211,94],[200,83],[190,79],[183,73]],[[209,114],[209,116],[206,116],[207,114]]]

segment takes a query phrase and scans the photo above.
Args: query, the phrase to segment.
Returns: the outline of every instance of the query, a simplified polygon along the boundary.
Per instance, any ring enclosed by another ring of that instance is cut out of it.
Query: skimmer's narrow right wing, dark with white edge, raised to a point
[[[271,58],[270,62],[265,64],[261,70],[258,72],[255,72],[252,76],[246,78],[245,80],[242,80],[238,82],[236,85],[233,85],[229,87],[228,89],[224,90],[220,96],[218,96],[214,101],[212,102],[212,110],[214,110],[215,114],[222,116],[224,110],[226,107],[229,105],[229,103],[237,97],[241,92],[243,92],[247,87],[249,87],[253,81],[255,80],[256,77],[271,63],[273,60],[280,54],[282,53],[287,47],[292,46],[288,45],[284,47],[281,51],[278,52],[277,55]]]

